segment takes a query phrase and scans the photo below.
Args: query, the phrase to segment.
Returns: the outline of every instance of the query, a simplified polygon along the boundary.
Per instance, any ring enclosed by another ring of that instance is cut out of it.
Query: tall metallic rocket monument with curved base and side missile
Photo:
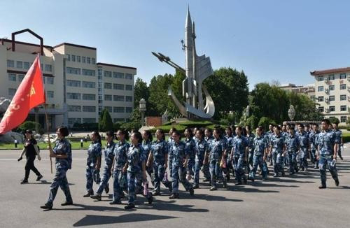
[[[183,45],[183,50],[186,55],[186,69],[175,64],[169,57],[162,55],[160,52],[152,52],[152,54],[155,55],[160,62],[165,62],[186,74],[186,79],[182,82],[182,92],[183,97],[186,97],[186,102],[181,103],[181,101],[176,98],[174,92],[172,92],[170,86],[168,89],[168,96],[172,97],[180,113],[188,118],[200,117],[210,119],[215,113],[214,101],[202,83],[204,79],[213,75],[214,71],[211,67],[209,57],[197,55],[195,38],[195,22],[192,23],[190,9],[188,8],[185,25],[185,44]],[[183,43],[183,41],[181,42]],[[205,96],[205,106],[202,91]]]

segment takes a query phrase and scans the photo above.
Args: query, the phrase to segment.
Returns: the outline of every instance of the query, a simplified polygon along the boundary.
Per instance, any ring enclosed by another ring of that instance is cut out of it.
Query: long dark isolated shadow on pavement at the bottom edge
[[[73,224],[73,227],[83,227],[92,225],[107,225],[124,222],[140,222],[140,221],[151,221],[151,220],[168,220],[177,218],[174,216],[165,215],[151,215],[151,214],[138,214],[129,213],[126,215],[119,216],[103,216],[103,215],[86,215],[84,218]]]

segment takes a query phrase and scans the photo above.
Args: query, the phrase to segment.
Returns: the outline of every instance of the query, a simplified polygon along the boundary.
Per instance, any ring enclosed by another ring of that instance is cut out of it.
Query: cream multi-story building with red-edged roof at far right
[[[350,117],[350,67],[310,72],[316,79],[318,110],[325,117],[337,117],[345,124]]]

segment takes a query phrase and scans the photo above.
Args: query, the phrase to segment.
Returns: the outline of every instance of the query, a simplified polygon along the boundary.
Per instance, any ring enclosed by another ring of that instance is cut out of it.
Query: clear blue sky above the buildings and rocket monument
[[[197,55],[213,69],[244,71],[249,88],[278,81],[314,83],[310,71],[350,66],[350,1],[19,0],[0,1],[0,38],[31,29],[45,45],[97,48],[97,62],[137,67],[147,83],[174,73],[151,52],[185,66],[181,40],[188,5]],[[29,34],[16,40],[38,43]]]

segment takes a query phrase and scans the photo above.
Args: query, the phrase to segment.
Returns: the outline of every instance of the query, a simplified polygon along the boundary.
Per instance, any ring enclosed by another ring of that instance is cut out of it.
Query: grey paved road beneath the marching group
[[[54,209],[43,211],[39,206],[48,198],[52,174],[48,152],[41,153],[43,160],[36,161],[36,166],[43,181],[37,183],[31,173],[29,184],[20,185],[25,159],[17,162],[18,151],[0,151],[0,227],[350,227],[349,147],[344,161],[337,163],[339,187],[328,174],[329,188],[318,190],[319,174],[311,169],[293,178],[271,177],[239,187],[230,183],[228,190],[216,192],[201,185],[194,197],[181,192],[181,199],[176,200],[170,200],[165,190],[152,206],[139,197],[133,211],[109,205],[111,194],[102,201],[82,197],[83,150],[73,150],[73,169],[67,175],[74,205],[60,206],[64,194],[59,190]]]

